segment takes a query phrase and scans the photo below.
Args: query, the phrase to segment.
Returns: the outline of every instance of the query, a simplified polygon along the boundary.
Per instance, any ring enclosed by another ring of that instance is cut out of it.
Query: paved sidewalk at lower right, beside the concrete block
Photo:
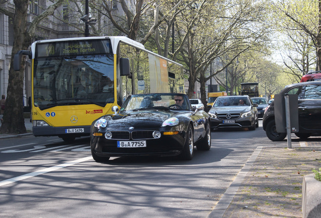
[[[321,138],[281,143],[261,147],[227,208],[208,217],[302,217],[303,177],[321,167]]]

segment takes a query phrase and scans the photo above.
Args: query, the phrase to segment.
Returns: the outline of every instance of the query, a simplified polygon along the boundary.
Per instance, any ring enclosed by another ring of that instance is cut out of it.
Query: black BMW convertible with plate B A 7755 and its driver
[[[192,159],[197,149],[210,149],[210,120],[202,106],[192,111],[185,94],[153,93],[129,96],[115,114],[91,125],[90,148],[95,161],[111,156],[181,155]]]

